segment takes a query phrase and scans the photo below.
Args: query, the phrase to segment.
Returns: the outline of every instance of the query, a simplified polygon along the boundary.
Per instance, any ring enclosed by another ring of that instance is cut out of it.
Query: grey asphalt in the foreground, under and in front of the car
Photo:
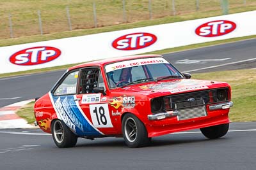
[[[76,147],[60,149],[51,136],[29,135],[42,133],[39,129],[0,130],[0,169],[253,170],[255,125],[256,122],[231,124],[226,136],[214,140],[198,131],[168,134],[153,138],[152,144],[144,148],[127,148],[122,138],[79,138]]]

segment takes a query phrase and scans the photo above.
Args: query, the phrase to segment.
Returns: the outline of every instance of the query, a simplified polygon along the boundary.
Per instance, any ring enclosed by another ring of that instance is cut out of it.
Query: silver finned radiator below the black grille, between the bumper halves
[[[184,110],[179,110],[178,120],[187,120],[189,118],[198,118],[207,116],[205,111],[205,106],[197,106],[193,108],[186,108]]]

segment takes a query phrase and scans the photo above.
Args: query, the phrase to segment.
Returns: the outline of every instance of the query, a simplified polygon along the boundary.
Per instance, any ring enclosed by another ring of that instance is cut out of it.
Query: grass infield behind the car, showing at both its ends
[[[230,120],[232,122],[256,121],[256,69],[197,73],[192,77],[228,82],[232,87],[232,101],[234,102],[234,106],[230,108]],[[35,121],[33,105],[34,102],[29,103],[17,112],[29,123]]]

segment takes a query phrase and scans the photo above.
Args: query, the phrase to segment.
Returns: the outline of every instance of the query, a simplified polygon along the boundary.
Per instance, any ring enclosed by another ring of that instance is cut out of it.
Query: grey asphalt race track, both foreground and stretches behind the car
[[[250,39],[164,56],[190,73],[255,68],[255,46]],[[63,73],[1,78],[0,107],[42,96]],[[122,138],[79,138],[76,147],[59,149],[40,129],[2,129],[0,169],[256,169],[255,129],[256,122],[234,123],[220,139],[192,131],[153,138],[152,145],[135,149]]]

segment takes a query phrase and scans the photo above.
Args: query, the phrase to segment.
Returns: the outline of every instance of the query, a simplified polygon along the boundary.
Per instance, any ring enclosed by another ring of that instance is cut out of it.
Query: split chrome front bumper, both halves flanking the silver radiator
[[[215,104],[212,106],[209,106],[209,110],[225,110],[229,109],[230,107],[233,106],[233,102],[227,102],[227,103],[221,103],[221,104]],[[166,111],[163,113],[157,113],[154,115],[148,115],[148,120],[162,120],[164,118],[169,118],[169,117],[177,117],[179,115],[179,111]]]

